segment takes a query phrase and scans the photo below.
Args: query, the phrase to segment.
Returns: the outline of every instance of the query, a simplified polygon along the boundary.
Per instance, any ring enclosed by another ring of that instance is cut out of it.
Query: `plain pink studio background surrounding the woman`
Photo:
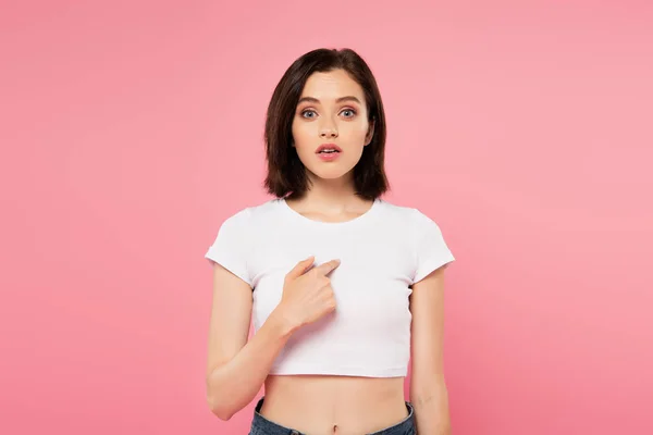
[[[204,253],[318,47],[371,65],[385,198],[456,254],[454,434],[653,433],[653,3],[82,3],[1,7],[0,433],[247,433]]]

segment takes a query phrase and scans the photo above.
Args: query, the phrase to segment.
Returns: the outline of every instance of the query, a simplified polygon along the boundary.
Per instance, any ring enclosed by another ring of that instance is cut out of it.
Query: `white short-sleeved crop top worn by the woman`
[[[309,256],[341,260],[329,275],[336,308],[297,330],[270,373],[406,376],[410,285],[454,261],[435,222],[382,199],[354,220],[320,222],[274,198],[226,219],[205,257],[254,289],[258,331],[281,301],[285,274]]]

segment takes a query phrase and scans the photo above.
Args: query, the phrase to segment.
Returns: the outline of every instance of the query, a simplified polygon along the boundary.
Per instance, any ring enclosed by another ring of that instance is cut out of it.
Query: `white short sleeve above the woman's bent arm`
[[[220,228],[205,258],[213,261],[249,284],[251,278],[247,270],[249,252],[249,209],[243,209],[227,217]]]

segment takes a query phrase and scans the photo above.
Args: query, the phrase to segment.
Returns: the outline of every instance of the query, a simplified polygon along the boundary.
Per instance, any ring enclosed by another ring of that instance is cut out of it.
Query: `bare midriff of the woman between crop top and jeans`
[[[408,417],[404,377],[270,375],[259,411],[303,433],[369,434]]]

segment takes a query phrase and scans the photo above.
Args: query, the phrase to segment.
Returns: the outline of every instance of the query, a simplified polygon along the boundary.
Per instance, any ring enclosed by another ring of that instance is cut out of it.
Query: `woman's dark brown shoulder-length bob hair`
[[[368,122],[374,134],[354,166],[356,195],[377,199],[390,189],[384,170],[385,113],[377,80],[367,63],[352,49],[317,49],[298,58],[274,88],[266,117],[268,174],[264,188],[278,198],[300,197],[308,189],[306,169],[293,144],[293,119],[308,77],[315,72],[346,71],[365,91]]]

